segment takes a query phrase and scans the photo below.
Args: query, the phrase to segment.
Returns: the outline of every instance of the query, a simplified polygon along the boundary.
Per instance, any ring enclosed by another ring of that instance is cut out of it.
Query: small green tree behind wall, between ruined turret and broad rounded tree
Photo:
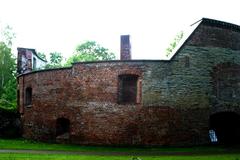
[[[63,56],[59,52],[50,53],[50,63],[45,68],[59,68],[62,67]]]

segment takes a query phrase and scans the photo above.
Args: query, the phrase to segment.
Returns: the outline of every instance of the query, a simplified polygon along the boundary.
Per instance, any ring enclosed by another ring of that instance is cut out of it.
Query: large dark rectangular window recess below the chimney
[[[136,75],[119,76],[119,103],[136,103],[137,99],[137,80]]]

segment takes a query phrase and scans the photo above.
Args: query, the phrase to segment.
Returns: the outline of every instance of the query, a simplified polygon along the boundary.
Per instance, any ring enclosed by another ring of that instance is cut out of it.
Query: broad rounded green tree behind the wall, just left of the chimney
[[[73,56],[67,60],[67,65],[75,62],[103,61],[116,59],[115,54],[95,41],[86,41],[77,46]]]

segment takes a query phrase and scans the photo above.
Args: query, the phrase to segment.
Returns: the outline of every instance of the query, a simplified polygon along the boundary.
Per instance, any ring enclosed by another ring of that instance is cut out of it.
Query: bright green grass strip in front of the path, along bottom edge
[[[239,160],[240,154],[211,156],[139,156],[141,160]],[[133,156],[84,156],[84,155],[46,155],[46,154],[0,154],[4,160],[133,160]]]

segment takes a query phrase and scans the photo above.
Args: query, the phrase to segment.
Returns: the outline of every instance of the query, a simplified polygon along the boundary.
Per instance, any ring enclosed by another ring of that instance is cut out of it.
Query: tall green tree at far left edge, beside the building
[[[0,107],[16,107],[16,58],[11,45],[15,37],[11,27],[1,32],[0,39]]]

